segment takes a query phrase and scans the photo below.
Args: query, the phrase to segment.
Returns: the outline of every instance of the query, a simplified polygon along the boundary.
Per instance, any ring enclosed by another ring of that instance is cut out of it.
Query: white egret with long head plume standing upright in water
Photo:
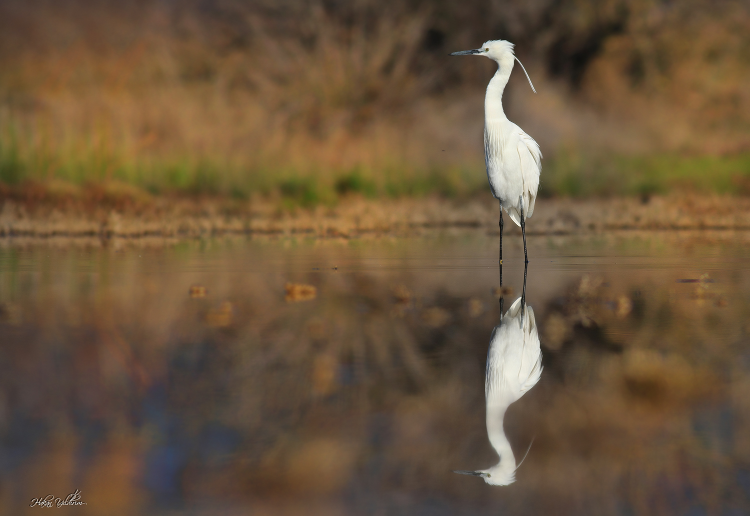
[[[500,201],[500,263],[502,263],[502,210],[520,225],[523,235],[523,259],[526,254],[526,217],[534,213],[539,187],[541,151],[531,136],[508,120],[502,111],[502,91],[508,84],[514,61],[518,61],[532,91],[536,93],[526,68],[513,53],[513,43],[485,41],[481,48],[453,52],[451,55],[484,55],[497,63],[497,71],[487,85],[484,97],[484,163],[494,198]],[[502,279],[500,281],[502,284]]]

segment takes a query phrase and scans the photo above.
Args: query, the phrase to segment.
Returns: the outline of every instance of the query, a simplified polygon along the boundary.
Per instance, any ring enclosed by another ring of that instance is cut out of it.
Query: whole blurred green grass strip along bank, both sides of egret
[[[254,165],[216,157],[139,156],[112,146],[83,142],[53,151],[23,141],[13,126],[0,131],[0,183],[64,180],[74,184],[119,180],[159,195],[226,195],[245,199],[271,195],[283,207],[332,205],[351,195],[364,198],[486,195],[484,167],[421,169],[389,166],[382,170],[314,169],[306,172],[267,163]],[[653,154],[623,156],[559,152],[544,160],[539,195],[654,195],[673,191],[750,195],[750,153],[734,156]],[[480,193],[481,192],[481,193]]]

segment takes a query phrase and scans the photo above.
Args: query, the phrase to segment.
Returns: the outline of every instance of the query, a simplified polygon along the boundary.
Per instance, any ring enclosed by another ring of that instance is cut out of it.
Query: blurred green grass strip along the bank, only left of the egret
[[[337,170],[312,164],[301,171],[218,157],[133,155],[94,139],[51,150],[31,137],[20,138],[19,133],[13,124],[0,127],[0,183],[62,180],[84,185],[117,180],[154,195],[272,196],[289,209],[332,205],[349,196],[460,198],[487,189],[484,171],[478,166],[392,165],[375,171],[365,166]]]

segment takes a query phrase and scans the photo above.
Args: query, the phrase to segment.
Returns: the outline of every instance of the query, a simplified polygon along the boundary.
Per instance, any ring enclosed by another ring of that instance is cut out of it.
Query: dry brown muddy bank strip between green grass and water
[[[333,207],[281,207],[262,198],[150,198],[134,203],[67,206],[0,199],[0,237],[195,238],[220,234],[306,234],[359,237],[419,234],[425,228],[498,231],[491,198],[365,200]],[[505,231],[519,233],[505,216]],[[529,234],[586,234],[611,230],[750,229],[750,198],[671,195],[593,200],[538,199]]]

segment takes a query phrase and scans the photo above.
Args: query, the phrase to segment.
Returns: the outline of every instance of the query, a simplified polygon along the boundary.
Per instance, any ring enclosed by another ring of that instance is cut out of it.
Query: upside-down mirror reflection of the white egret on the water
[[[502,315],[501,300],[500,324],[492,331],[487,350],[484,380],[487,437],[499,455],[499,462],[487,470],[453,470],[453,473],[462,475],[481,476],[490,485],[515,482],[516,460],[502,422],[508,407],[535,386],[541,377],[539,333],[534,311],[526,306],[527,268],[523,270],[523,294],[511,304],[505,315]]]

